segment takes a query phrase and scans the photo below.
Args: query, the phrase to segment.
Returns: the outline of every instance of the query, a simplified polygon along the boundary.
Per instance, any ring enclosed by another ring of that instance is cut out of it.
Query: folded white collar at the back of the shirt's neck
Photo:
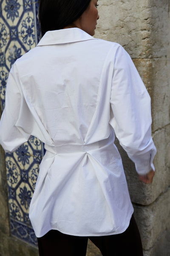
[[[50,44],[67,44],[95,39],[79,28],[52,30],[45,33],[37,46]]]

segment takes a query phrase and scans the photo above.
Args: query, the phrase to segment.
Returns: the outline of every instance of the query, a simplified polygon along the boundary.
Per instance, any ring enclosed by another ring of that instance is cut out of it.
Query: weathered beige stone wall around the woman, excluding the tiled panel
[[[0,2],[5,6],[6,0]],[[22,0],[17,2],[22,6]],[[24,0],[24,3],[25,12],[30,13],[31,1]],[[144,256],[169,256],[170,0],[98,0],[98,3],[100,19],[95,37],[117,42],[127,50],[151,96],[152,132],[157,147],[153,184],[145,185],[138,180],[134,164],[118,141],[116,144],[122,155]],[[36,247],[10,235],[10,214],[5,155],[0,148],[0,256],[37,256]],[[87,256],[101,256],[91,242]]]

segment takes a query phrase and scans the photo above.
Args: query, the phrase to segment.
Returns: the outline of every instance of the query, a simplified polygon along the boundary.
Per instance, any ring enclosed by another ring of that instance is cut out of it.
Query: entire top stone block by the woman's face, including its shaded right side
[[[100,19],[96,37],[121,44],[132,58],[167,55],[170,39],[169,1],[98,2]]]

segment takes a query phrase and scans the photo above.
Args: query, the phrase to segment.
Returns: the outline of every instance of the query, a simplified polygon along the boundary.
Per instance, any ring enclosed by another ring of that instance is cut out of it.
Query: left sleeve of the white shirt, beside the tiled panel
[[[20,89],[20,79],[14,64],[8,76],[5,108],[0,120],[0,144],[6,152],[15,151],[31,135],[24,128],[17,127],[20,119],[31,131],[33,119]]]

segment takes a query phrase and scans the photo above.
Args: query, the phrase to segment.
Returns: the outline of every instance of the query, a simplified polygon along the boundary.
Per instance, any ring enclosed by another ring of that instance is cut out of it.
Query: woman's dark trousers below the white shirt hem
[[[132,215],[124,233],[110,236],[70,236],[50,230],[38,238],[40,256],[85,256],[88,239],[103,256],[143,256],[142,242],[136,221]]]

